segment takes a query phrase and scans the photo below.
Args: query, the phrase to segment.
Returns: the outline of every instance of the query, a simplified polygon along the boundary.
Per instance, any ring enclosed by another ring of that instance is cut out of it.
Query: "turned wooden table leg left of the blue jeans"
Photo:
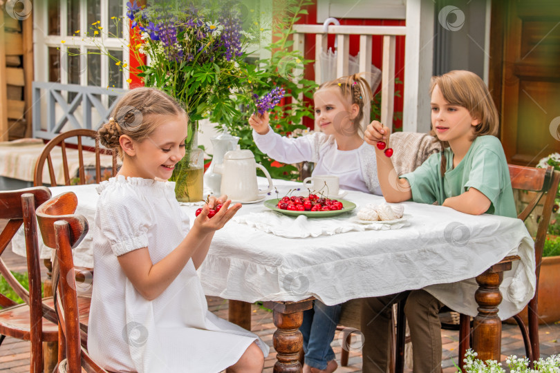
[[[274,332],[273,344],[277,362],[274,373],[301,373],[299,352],[304,346],[304,336],[299,327],[304,321],[304,311],[313,307],[313,300],[299,302],[265,302],[265,307],[272,309],[272,317],[277,331]]]

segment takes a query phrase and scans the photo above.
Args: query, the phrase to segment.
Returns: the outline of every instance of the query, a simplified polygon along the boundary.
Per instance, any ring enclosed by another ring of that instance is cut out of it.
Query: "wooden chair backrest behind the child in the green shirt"
[[[536,283],[538,284],[546,231],[548,229],[548,223],[550,222],[554,198],[556,197],[558,184],[560,182],[560,171],[554,171],[552,166],[548,167],[548,169],[536,169],[534,167],[517,166],[514,164],[509,164],[508,166],[510,167],[510,178],[512,180],[513,189],[536,192],[534,198],[532,198],[527,207],[518,214],[518,218],[525,221],[539,201],[544,199],[543,212],[539,219],[534,241]]]

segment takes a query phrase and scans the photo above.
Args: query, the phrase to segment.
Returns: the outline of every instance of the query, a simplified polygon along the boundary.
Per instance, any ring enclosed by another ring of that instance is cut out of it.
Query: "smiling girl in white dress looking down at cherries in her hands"
[[[165,181],[185,155],[183,108],[159,90],[136,88],[99,136],[123,162],[97,189],[91,356],[112,372],[262,372],[268,346],[209,312],[196,274],[214,232],[241,204],[211,197],[189,229],[175,183]]]

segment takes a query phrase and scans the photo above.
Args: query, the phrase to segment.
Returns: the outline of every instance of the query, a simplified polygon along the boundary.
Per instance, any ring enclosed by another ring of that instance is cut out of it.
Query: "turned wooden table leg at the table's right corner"
[[[518,257],[519,258],[519,257]],[[503,271],[512,269],[511,260],[493,265],[476,277],[478,289],[474,294],[478,303],[478,315],[473,323],[473,350],[482,361],[501,361],[502,321],[498,317],[498,305],[502,301],[500,284]]]

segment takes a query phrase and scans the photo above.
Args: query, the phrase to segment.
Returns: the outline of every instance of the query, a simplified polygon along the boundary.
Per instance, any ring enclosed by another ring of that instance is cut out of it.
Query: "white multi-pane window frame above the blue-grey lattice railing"
[[[100,26],[102,30],[109,30],[110,22],[113,19],[107,17],[107,12],[109,8],[109,0],[98,0],[101,5],[101,21]],[[35,80],[38,82],[48,82],[48,48],[59,48],[60,52],[60,83],[68,84],[68,60],[63,58],[67,55],[68,48],[79,48],[81,54],[85,54],[88,48],[97,49],[97,46],[91,42],[91,37],[82,37],[86,30],[89,30],[91,25],[87,24],[87,1],[80,0],[80,35],[68,36],[68,25],[66,22],[66,0],[60,0],[60,35],[47,35],[48,34],[48,1],[36,1],[34,6],[35,15],[34,26],[33,26],[33,40],[34,40],[34,55],[35,55]],[[130,32],[129,32],[129,18],[127,17],[127,0],[122,0],[122,21],[119,23],[119,31],[122,30],[123,35],[121,38],[108,37],[106,32],[101,32],[101,37],[96,37],[102,45],[108,50],[122,50],[122,63],[130,65]],[[71,30],[73,34],[75,30]],[[83,39],[83,40],[82,40]],[[65,41],[62,43],[62,41]],[[87,57],[84,55],[84,57]],[[109,84],[109,57],[106,55],[100,55],[101,57],[101,86],[113,88],[112,84]],[[82,57],[81,57],[82,58]],[[82,61],[82,60],[81,60]],[[80,62],[81,62],[80,61]],[[84,73],[80,74],[80,85],[88,85],[88,71],[87,62]],[[115,88],[127,88],[127,79],[129,79],[130,73],[127,68],[123,70],[122,84],[123,87]],[[106,99],[106,97],[104,97]],[[106,104],[106,103],[104,103]]]

